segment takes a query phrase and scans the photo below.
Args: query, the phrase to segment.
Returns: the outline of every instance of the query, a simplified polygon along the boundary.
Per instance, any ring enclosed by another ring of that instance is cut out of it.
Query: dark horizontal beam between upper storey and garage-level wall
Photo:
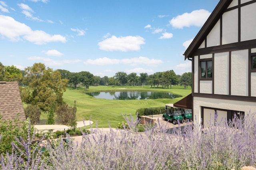
[[[193,97],[203,97],[203,98],[211,98],[211,99],[224,99],[224,100],[233,100],[233,101],[256,102],[256,97],[248,97],[248,96],[234,96],[234,95],[217,95],[217,94],[206,94],[206,93],[194,93]]]

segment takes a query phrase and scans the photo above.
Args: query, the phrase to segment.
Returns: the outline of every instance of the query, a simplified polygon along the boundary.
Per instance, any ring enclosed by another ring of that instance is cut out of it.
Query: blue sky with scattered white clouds
[[[182,55],[219,0],[0,0],[0,62],[19,69],[191,71]]]

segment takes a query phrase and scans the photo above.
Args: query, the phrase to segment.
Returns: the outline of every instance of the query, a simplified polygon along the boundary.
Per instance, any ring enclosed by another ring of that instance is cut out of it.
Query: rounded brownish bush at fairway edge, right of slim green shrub
[[[63,103],[56,111],[56,118],[63,125],[76,126],[76,101],[73,107]]]

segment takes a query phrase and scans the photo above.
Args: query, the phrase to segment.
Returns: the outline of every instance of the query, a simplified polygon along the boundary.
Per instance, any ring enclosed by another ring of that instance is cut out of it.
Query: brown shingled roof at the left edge
[[[26,121],[17,81],[0,81],[0,115],[10,120],[20,113],[20,121]]]

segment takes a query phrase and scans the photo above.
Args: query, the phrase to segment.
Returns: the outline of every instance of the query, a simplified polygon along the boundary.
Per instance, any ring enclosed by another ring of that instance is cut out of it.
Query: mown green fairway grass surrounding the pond
[[[131,87],[112,87],[112,86],[91,86],[89,89],[78,87],[76,90],[73,87],[68,87],[64,92],[63,98],[68,105],[74,105],[76,101],[76,117],[77,121],[92,120],[92,127],[96,127],[98,122],[99,128],[107,128],[108,122],[112,128],[115,128],[119,122],[124,121],[122,114],[132,115],[136,117],[136,110],[149,107],[164,107],[167,103],[175,103],[183,97],[191,93],[191,88],[184,89],[182,86],[173,86],[172,89],[164,89],[162,87],[150,88],[151,86]],[[176,95],[181,95],[175,99],[146,99],[146,100],[108,100],[97,99],[86,95],[86,92],[96,91],[163,91]]]

